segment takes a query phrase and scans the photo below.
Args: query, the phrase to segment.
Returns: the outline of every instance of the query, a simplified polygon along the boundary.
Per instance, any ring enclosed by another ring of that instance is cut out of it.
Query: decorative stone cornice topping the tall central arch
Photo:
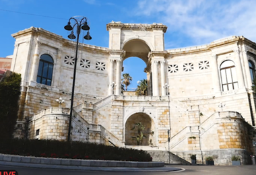
[[[129,24],[129,23],[121,23],[121,22],[110,22],[106,24],[106,30],[110,30],[111,28],[120,28],[121,30],[144,30],[144,31],[153,31],[153,30],[162,30],[162,32],[166,32],[167,26],[163,24]]]

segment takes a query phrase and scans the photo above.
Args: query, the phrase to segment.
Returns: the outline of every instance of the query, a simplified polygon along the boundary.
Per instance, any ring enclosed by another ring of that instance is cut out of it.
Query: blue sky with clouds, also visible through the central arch
[[[0,57],[13,54],[11,34],[31,26],[67,38],[70,17],[90,21],[92,40],[86,44],[108,47],[109,22],[152,24],[168,27],[165,49],[209,44],[228,36],[245,36],[256,42],[256,0],[0,0]],[[146,79],[146,64],[138,58],[124,61],[133,77],[129,88]]]

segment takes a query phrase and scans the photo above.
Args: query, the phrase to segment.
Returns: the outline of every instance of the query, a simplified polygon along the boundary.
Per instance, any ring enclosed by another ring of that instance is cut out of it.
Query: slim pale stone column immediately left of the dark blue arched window
[[[36,82],[38,66],[39,66],[39,46],[40,46],[40,42],[36,41],[36,48],[34,49],[32,71],[30,76],[30,81],[35,81],[35,82]]]

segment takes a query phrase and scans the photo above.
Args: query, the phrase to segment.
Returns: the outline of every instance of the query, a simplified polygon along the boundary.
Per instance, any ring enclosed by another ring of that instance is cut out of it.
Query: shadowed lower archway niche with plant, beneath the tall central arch
[[[138,129],[133,127],[137,124],[141,123],[144,129],[142,131],[143,137],[141,144],[139,145],[155,145],[154,141],[154,121],[143,112],[138,112],[132,114],[125,123],[125,145],[138,145],[137,139],[135,137],[140,137],[138,133]]]

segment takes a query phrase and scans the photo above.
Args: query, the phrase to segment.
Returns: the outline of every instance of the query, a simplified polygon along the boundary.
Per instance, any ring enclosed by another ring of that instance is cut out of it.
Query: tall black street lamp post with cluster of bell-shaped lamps
[[[75,23],[73,26],[71,26],[71,20],[73,20]],[[77,38],[76,41],[76,50],[75,50],[75,65],[74,65],[74,72],[73,72],[73,85],[72,85],[72,95],[71,95],[71,104],[70,104],[70,114],[69,114],[69,131],[67,133],[67,141],[70,141],[70,132],[71,132],[71,121],[72,121],[72,110],[73,110],[73,98],[74,98],[74,92],[75,92],[75,73],[76,73],[76,65],[77,65],[77,52],[78,52],[78,43],[79,43],[79,34],[82,30],[88,30],[86,36],[84,36],[84,39],[86,40],[91,40],[92,37],[90,36],[90,27],[87,24],[88,19],[86,17],[82,17],[82,19],[76,19],[75,17],[70,17],[69,22],[67,25],[64,27],[65,30],[71,31],[71,34],[67,36],[69,39],[75,39]],[[73,30],[76,26],[76,34],[77,37],[75,36]]]

